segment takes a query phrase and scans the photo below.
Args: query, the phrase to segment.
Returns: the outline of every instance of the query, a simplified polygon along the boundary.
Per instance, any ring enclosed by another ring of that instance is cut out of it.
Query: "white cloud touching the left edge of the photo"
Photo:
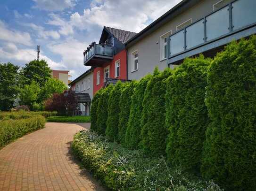
[[[8,26],[0,21],[0,40],[31,46],[31,37],[27,32],[8,29]]]

